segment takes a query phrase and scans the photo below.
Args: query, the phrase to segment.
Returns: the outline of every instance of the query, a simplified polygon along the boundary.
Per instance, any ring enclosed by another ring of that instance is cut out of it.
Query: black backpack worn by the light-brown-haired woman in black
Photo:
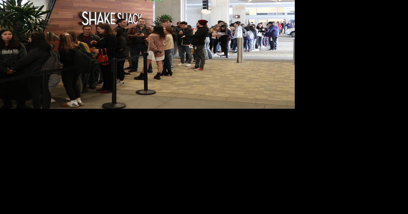
[[[96,71],[98,68],[98,60],[93,58],[91,53],[88,53],[80,48],[71,49],[75,51],[74,64],[76,66],[81,66],[80,68],[75,69],[77,73],[91,73]]]

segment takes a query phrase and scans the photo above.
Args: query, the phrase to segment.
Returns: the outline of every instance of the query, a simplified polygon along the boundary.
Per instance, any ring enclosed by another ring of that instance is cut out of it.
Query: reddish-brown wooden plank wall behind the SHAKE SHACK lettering
[[[106,12],[106,13],[142,13],[142,18],[146,19],[146,25],[151,25],[153,21],[153,2],[146,0],[56,0],[51,13],[49,24],[54,26],[45,30],[45,33],[52,31],[56,35],[65,30],[74,30],[77,35],[82,33],[81,18],[83,11]],[[113,18],[113,17],[112,17]],[[116,20],[116,18],[114,18]],[[135,16],[137,19],[137,16]],[[137,22],[137,20],[134,20]],[[95,33],[95,24],[92,25],[92,33]],[[129,24],[129,27],[135,24]],[[112,29],[116,24],[111,24]],[[52,40],[51,40],[52,41]],[[58,46],[58,42],[51,42]]]

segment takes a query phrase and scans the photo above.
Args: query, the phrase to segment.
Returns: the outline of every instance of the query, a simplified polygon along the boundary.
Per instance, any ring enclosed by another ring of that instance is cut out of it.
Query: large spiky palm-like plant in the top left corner
[[[14,35],[20,40],[20,42],[27,44],[28,37],[35,31],[44,31],[48,26],[45,20],[47,18],[42,15],[50,13],[49,11],[41,11],[44,5],[41,7],[34,7],[33,3],[28,1],[25,4],[21,4],[22,0],[4,0],[0,1],[0,28],[7,28],[14,32]],[[51,40],[51,35],[57,40],[58,36],[52,32],[48,32],[47,38]]]

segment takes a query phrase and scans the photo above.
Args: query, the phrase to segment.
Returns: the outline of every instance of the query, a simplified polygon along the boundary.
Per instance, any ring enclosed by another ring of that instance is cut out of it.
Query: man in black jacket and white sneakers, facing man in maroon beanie
[[[191,66],[191,60],[193,60],[193,55],[191,54],[191,38],[182,38],[182,36],[193,35],[193,29],[187,26],[187,22],[180,22],[181,28],[177,29],[177,47],[179,49],[179,56],[181,63],[177,66]],[[184,65],[184,54],[187,54],[187,64]]]

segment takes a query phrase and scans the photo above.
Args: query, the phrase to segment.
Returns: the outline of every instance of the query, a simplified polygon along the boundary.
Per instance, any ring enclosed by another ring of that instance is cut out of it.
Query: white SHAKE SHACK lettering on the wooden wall
[[[105,12],[87,12],[81,13],[81,18],[84,20],[83,25],[86,24],[116,24],[117,19],[126,19],[129,24],[136,24],[137,20],[142,17],[140,13],[105,13]]]

